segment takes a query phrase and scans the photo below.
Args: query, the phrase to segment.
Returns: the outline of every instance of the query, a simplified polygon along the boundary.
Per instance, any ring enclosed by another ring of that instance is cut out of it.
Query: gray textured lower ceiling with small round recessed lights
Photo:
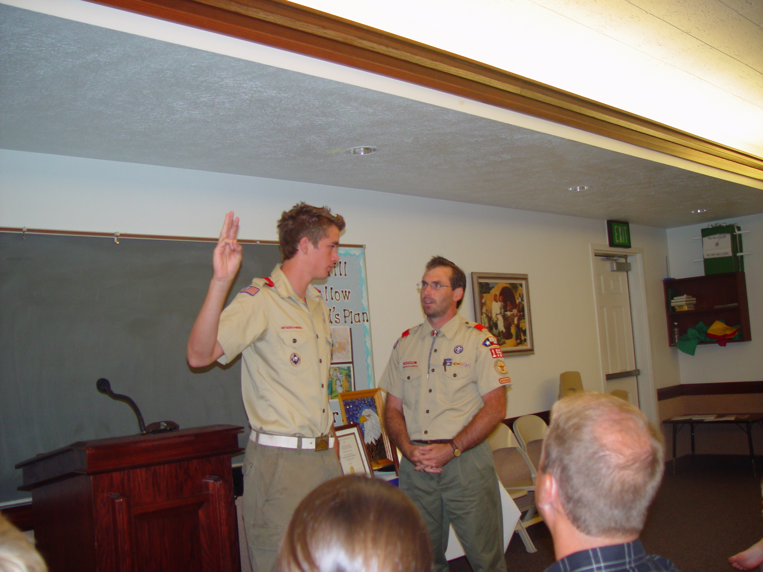
[[[5,149],[655,227],[763,212],[755,188],[459,111],[8,5],[0,21]],[[379,152],[341,153],[359,145]]]

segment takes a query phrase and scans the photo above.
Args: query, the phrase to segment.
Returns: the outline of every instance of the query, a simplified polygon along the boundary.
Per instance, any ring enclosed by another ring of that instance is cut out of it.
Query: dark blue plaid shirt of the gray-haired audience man
[[[570,554],[546,572],[678,572],[671,561],[645,554],[641,541],[601,546]]]

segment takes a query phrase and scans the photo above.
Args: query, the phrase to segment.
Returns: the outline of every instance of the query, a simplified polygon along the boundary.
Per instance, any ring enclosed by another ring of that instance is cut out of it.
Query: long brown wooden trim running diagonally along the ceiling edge
[[[90,0],[375,72],[763,180],[763,159],[286,0]]]

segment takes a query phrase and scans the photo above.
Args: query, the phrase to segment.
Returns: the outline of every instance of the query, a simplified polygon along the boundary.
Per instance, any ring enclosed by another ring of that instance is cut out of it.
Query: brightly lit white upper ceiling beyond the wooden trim
[[[763,0],[301,0],[763,156]]]

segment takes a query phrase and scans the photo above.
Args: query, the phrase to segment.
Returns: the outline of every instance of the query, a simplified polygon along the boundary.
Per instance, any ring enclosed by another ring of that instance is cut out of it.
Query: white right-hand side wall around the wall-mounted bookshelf
[[[742,235],[745,252],[745,280],[750,311],[752,342],[730,343],[725,348],[718,345],[697,346],[694,356],[681,353],[682,384],[703,384],[719,381],[761,381],[763,380],[763,214],[737,217],[717,222],[739,223],[742,230],[750,232]],[[702,241],[692,240],[700,236],[700,230],[707,224],[680,227],[668,230],[670,268],[672,278],[687,278],[704,274],[702,262]],[[707,324],[710,326],[710,324]]]

